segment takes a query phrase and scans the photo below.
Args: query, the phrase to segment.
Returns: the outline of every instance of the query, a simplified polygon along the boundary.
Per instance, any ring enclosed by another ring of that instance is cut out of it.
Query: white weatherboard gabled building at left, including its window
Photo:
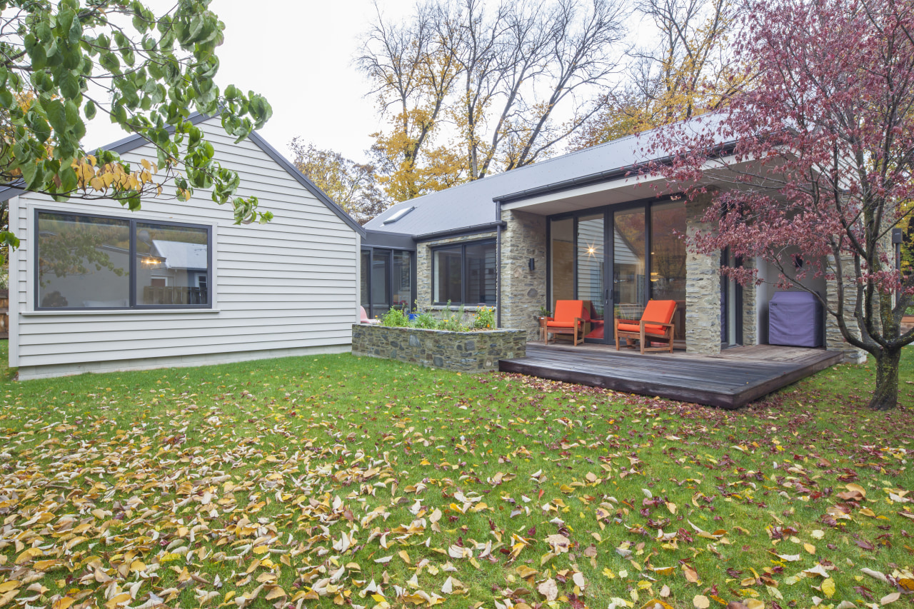
[[[202,190],[137,212],[0,192],[21,240],[9,286],[20,379],[349,350],[363,230],[258,134],[235,144],[218,118],[192,121],[272,221],[237,226]],[[155,158],[138,136],[111,149]]]

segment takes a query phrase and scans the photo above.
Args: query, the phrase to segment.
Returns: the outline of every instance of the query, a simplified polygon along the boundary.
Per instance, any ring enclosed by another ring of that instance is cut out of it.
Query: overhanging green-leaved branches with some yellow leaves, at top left
[[[271,218],[257,198],[235,196],[239,177],[188,120],[195,110],[219,115],[240,141],[272,112],[257,93],[214,82],[224,25],[209,0],[177,0],[162,15],[129,0],[0,0],[0,10],[0,187],[134,210],[173,181],[179,200],[211,188],[237,222]],[[97,114],[142,135],[156,158],[131,166],[87,151],[86,122]],[[8,230],[0,239],[16,246]]]

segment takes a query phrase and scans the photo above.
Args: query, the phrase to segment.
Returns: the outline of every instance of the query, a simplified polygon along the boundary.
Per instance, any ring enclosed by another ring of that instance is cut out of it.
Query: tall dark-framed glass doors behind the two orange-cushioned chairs
[[[683,235],[685,203],[669,199],[551,218],[547,308],[584,301],[586,340],[613,343],[616,318],[640,319],[650,298],[675,300],[675,337],[684,338]]]

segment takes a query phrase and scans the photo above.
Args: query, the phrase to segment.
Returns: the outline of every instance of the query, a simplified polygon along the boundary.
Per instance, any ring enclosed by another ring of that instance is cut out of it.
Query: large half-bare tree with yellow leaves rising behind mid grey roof
[[[625,13],[622,0],[447,0],[398,24],[378,13],[358,66],[388,122],[373,151],[390,197],[552,154],[600,111]]]

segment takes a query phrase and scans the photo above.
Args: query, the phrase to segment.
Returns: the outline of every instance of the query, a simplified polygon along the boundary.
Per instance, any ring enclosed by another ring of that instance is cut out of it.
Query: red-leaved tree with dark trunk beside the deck
[[[715,231],[696,251],[729,247],[780,271],[779,287],[816,294],[845,339],[876,360],[870,407],[898,401],[901,349],[914,341],[901,315],[914,278],[895,271],[890,235],[914,196],[914,0],[746,0],[736,41],[747,86],[698,123],[654,136],[672,153],[658,171],[704,192]],[[795,271],[797,257],[805,262]],[[741,283],[758,269],[722,269]]]

